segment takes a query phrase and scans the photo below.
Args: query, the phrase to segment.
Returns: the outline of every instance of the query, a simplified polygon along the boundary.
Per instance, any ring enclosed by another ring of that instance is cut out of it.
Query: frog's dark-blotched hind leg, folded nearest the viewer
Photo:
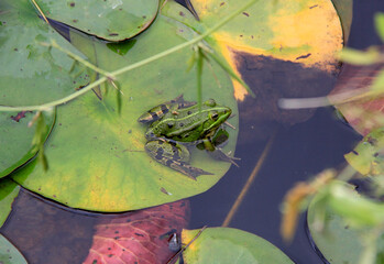
[[[195,179],[200,175],[212,175],[201,168],[190,166],[189,151],[182,144],[166,139],[151,140],[145,144],[145,151],[156,162],[168,166],[189,178]]]

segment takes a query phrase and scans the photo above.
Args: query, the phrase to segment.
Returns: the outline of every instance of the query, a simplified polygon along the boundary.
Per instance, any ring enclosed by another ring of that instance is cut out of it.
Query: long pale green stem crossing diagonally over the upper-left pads
[[[238,9],[235,12],[233,12],[232,14],[230,14],[229,16],[224,18],[223,20],[221,20],[218,24],[216,24],[213,28],[209,29],[208,31],[206,31],[204,34],[188,41],[188,42],[185,42],[183,44],[179,44],[177,46],[174,46],[169,50],[166,50],[162,53],[158,53],[154,56],[151,56],[149,58],[145,58],[141,62],[138,62],[138,63],[134,63],[132,65],[129,65],[129,66],[125,66],[121,69],[118,69],[118,70],[114,70],[114,72],[111,72],[109,76],[111,76],[113,79],[121,75],[121,74],[124,74],[129,70],[132,70],[132,69],[135,69],[135,68],[139,68],[139,67],[142,67],[149,63],[152,63],[154,61],[157,61],[162,57],[165,57],[172,53],[175,53],[177,51],[180,51],[187,46],[190,46],[195,43],[198,43],[200,41],[202,41],[205,37],[207,37],[208,35],[210,35],[212,32],[217,31],[218,29],[220,29],[222,25],[224,25],[226,23],[228,23],[230,20],[234,19],[239,13],[241,13],[243,10],[248,9],[249,7],[251,7],[252,4],[254,4],[255,2],[257,2],[259,0],[251,0],[249,1],[246,4],[242,6],[240,9]],[[64,98],[61,98],[58,100],[55,100],[55,101],[51,101],[51,102],[47,102],[47,103],[43,103],[43,105],[40,105],[40,106],[26,106],[26,107],[6,107],[6,106],[0,106],[0,111],[44,111],[48,108],[52,108],[52,107],[56,107],[56,106],[59,106],[59,105],[63,105],[63,103],[66,103],[84,94],[86,94],[87,91],[91,90],[92,88],[97,87],[98,85],[102,84],[103,81],[108,80],[109,78],[108,77],[101,77],[100,79],[94,81],[92,84],[84,87],[83,89],[67,96],[67,97],[64,97]]]

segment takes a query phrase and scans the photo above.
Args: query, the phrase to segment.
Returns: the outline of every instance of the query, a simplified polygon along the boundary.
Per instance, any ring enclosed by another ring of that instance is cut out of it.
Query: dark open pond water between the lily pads
[[[363,48],[380,41],[372,16],[384,11],[382,0],[354,1],[354,21],[349,45]],[[327,167],[343,164],[360,136],[338,121],[332,109],[282,111],[276,100],[282,97],[311,97],[319,89],[326,95],[334,76],[297,64],[268,57],[242,59],[246,81],[256,87],[257,99],[240,105],[241,127],[235,156],[240,167],[233,167],[209,191],[193,197],[190,229],[221,226],[233,201],[261,155],[268,135],[276,132],[270,155],[251,186],[230,227],[255,233],[283,250],[295,263],[323,263],[306,233],[306,219],[290,244],[279,235],[279,205],[287,190]],[[307,89],[303,89],[303,87]],[[298,94],[305,90],[305,94]],[[259,118],[255,118],[259,117]],[[308,121],[306,121],[308,120]],[[304,122],[306,121],[306,122]],[[0,229],[32,264],[81,263],[92,242],[95,213],[78,213],[22,190],[13,211]]]

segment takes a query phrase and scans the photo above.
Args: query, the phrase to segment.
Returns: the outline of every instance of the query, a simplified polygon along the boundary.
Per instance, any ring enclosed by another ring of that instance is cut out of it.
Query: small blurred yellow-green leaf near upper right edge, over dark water
[[[377,48],[369,48],[366,52],[361,52],[344,47],[339,54],[339,59],[354,65],[371,65],[380,63],[380,56],[381,53]]]

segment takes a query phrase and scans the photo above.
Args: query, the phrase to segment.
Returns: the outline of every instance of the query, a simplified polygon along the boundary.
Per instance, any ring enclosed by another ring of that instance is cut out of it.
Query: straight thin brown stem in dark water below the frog
[[[271,150],[271,146],[272,146],[272,143],[274,142],[275,140],[275,135],[276,135],[276,131],[275,133],[271,136],[271,139],[268,140],[268,143],[265,145],[264,150],[263,150],[263,153],[262,155],[260,156],[256,165],[254,166],[250,177],[248,178],[245,185],[243,186],[243,188],[241,189],[238,198],[235,199],[233,206],[231,207],[230,211],[228,212],[224,221],[222,222],[221,227],[228,227],[234,215],[237,213],[239,207],[241,206],[242,201],[244,200],[245,196],[246,196],[246,193],[249,191],[252,183],[254,182],[254,179],[256,178],[261,167],[263,166],[264,164],[264,161],[265,158],[267,157],[268,153],[270,153],[270,150]]]

